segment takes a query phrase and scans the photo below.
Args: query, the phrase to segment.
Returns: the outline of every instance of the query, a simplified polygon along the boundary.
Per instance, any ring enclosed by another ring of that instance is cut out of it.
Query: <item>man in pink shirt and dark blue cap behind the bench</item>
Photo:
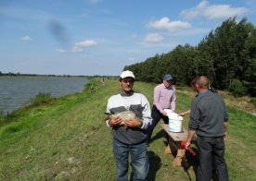
[[[157,85],[154,89],[154,103],[151,114],[153,121],[147,130],[147,145],[149,144],[152,132],[160,122],[160,119],[162,119],[165,124],[169,123],[169,118],[164,109],[171,109],[172,112],[175,111],[176,96],[172,81],[173,77],[170,74],[166,74],[163,77],[162,83]]]

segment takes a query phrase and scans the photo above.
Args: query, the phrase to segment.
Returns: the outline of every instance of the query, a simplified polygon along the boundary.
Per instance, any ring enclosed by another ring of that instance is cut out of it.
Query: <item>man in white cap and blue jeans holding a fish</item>
[[[122,91],[109,98],[107,113],[117,115],[133,111],[134,118],[111,116],[107,125],[112,127],[113,152],[117,168],[117,180],[128,180],[128,157],[131,154],[133,180],[147,180],[149,163],[147,156],[147,127],[151,124],[150,105],[145,95],[134,92],[134,73],[126,70],[120,75]]]

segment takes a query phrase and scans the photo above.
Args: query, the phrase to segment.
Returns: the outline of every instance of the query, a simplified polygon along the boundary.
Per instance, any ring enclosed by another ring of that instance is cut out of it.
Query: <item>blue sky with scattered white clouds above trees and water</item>
[[[256,0],[0,0],[0,71],[118,76],[235,16],[255,26]]]

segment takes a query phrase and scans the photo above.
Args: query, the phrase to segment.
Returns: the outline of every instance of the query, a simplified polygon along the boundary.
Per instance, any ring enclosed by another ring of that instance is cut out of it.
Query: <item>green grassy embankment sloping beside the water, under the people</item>
[[[109,96],[120,87],[117,79],[106,80],[105,86],[93,81],[96,92],[87,87],[81,93],[0,117],[0,180],[114,180],[110,129],[103,117]],[[135,82],[134,90],[143,92],[152,105],[154,86]],[[177,111],[184,111],[194,92],[177,90]],[[256,117],[234,105],[228,106],[225,152],[230,180],[256,180]],[[185,169],[173,167],[173,156],[164,154],[165,147],[159,125],[148,147],[148,180],[195,180],[196,158],[187,153],[193,164]]]

